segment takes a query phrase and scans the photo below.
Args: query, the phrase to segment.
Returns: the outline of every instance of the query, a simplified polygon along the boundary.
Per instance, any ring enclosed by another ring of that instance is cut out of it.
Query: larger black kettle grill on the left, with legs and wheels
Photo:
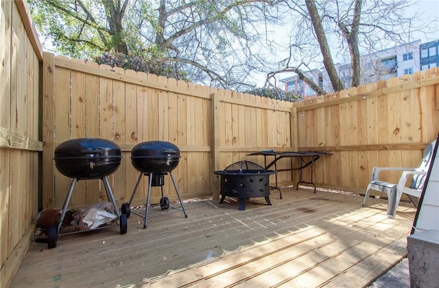
[[[117,144],[100,138],[79,138],[63,142],[55,149],[55,166],[58,171],[72,178],[69,192],[62,206],[60,222],[49,228],[49,248],[56,247],[62,221],[67,212],[75,183],[86,179],[101,179],[104,182],[108,201],[119,218],[120,233],[127,231],[127,215],[119,213],[107,176],[114,173],[121,163],[121,149]]]

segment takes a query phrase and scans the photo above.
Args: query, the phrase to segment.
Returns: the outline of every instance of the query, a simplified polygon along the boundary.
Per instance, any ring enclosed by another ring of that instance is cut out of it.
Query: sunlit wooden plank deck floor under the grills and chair
[[[132,214],[126,235],[32,243],[10,287],[366,287],[407,254],[412,205],[388,219],[383,200],[309,189],[270,199],[246,211],[233,198],[187,202],[189,218],[169,209],[146,229]]]

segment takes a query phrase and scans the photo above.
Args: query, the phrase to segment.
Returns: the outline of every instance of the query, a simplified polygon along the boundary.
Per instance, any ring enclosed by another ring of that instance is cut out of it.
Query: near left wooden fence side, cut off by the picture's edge
[[[19,267],[38,196],[42,51],[23,1],[0,10],[0,287]]]

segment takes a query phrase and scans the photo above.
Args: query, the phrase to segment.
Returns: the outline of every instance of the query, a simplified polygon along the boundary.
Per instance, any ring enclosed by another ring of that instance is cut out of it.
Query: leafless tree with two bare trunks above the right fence
[[[428,25],[432,22],[429,19],[418,21],[418,14],[405,16],[404,12],[416,5],[407,0],[306,0],[305,3],[285,1],[282,4],[298,20],[295,23],[296,29],[291,29],[289,55],[268,77],[286,71],[297,73],[299,79],[309,83],[318,94],[324,94],[325,91],[306,77],[307,69],[313,64],[323,62],[333,90],[340,91],[347,86],[337,74],[333,59],[348,54],[351,65],[350,86],[359,86],[361,50],[370,53],[387,45],[411,42],[414,40],[414,31],[429,33]],[[316,46],[320,48],[318,54],[313,52]],[[300,55],[300,59],[295,58],[296,55]]]

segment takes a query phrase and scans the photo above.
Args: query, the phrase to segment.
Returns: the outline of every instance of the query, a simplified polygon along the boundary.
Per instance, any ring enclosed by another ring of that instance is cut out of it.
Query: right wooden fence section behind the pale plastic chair
[[[417,167],[439,132],[439,69],[343,90],[298,103],[299,150],[333,155],[316,165],[315,181],[362,193],[372,167]],[[397,183],[399,172],[383,172]]]

